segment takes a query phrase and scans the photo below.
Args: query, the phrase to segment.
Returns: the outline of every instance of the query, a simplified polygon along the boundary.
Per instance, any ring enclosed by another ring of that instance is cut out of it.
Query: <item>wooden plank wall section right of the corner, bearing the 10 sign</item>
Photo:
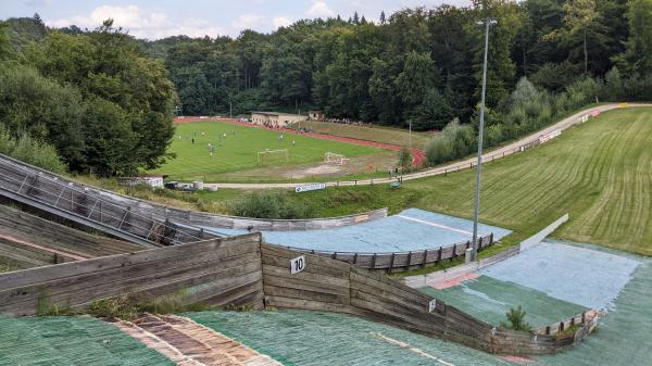
[[[496,354],[550,354],[575,344],[573,335],[500,330],[439,300],[430,313],[434,298],[337,260],[266,243],[261,253],[267,307],[356,315]],[[305,269],[292,275],[290,262],[300,255]]]

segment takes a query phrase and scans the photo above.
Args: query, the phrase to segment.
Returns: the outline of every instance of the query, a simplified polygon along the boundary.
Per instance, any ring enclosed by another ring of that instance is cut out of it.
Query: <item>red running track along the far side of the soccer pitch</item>
[[[365,146],[365,147],[379,148],[379,149],[384,149],[384,150],[391,150],[391,151],[400,151],[401,150],[401,146],[399,146],[399,144],[383,143],[383,142],[376,142],[376,141],[353,139],[350,137],[341,137],[341,136],[333,136],[333,135],[324,135],[324,134],[315,134],[315,132],[304,134],[304,132],[299,132],[299,131],[290,129],[290,128],[268,128],[268,127],[264,127],[261,125],[255,125],[255,124],[241,122],[241,121],[237,121],[237,119],[200,118],[200,117],[176,117],[176,118],[174,118],[175,124],[183,124],[183,123],[190,123],[190,122],[225,122],[225,123],[228,123],[231,125],[238,125],[238,126],[244,126],[244,127],[251,127],[251,128],[262,128],[262,129],[268,129],[268,130],[277,130],[277,131],[283,131],[285,134],[310,136],[310,137],[314,137],[314,138],[323,139],[323,140],[340,141],[340,142],[360,144],[360,146]],[[410,150],[410,154],[412,155],[412,165],[422,166],[422,164],[424,163],[424,161],[426,159],[425,152],[421,149],[414,148],[414,149]]]

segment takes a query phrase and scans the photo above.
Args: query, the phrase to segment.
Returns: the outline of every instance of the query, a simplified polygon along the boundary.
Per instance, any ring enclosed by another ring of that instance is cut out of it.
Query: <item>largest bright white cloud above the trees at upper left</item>
[[[82,28],[96,28],[108,18],[113,18],[113,26],[123,27],[138,38],[158,39],[170,36],[186,35],[189,37],[216,37],[224,35],[221,27],[211,26],[206,21],[186,18],[180,23],[172,22],[166,14],[159,12],[141,12],[137,5],[96,8],[89,15],[47,21],[52,27],[77,25]]]

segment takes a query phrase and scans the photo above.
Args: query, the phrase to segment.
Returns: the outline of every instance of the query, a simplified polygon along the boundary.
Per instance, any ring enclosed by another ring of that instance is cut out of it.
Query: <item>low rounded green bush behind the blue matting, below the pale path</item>
[[[237,216],[259,218],[309,218],[314,207],[296,204],[286,192],[256,191],[231,205]]]

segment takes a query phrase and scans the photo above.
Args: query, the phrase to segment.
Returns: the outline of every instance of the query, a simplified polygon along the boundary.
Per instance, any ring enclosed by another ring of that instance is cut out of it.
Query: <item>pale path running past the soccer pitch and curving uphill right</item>
[[[652,104],[642,104],[642,103],[627,104],[627,108],[636,108],[636,106],[652,106]],[[567,128],[570,128],[570,127],[581,123],[580,119],[582,116],[586,116],[586,115],[595,116],[602,112],[615,110],[617,108],[622,108],[622,104],[620,103],[604,104],[604,105],[593,106],[593,108],[589,108],[584,111],[577,112],[577,113],[555,123],[554,125],[548,126],[544,129],[541,129],[535,134],[531,134],[519,140],[509,143],[502,148],[499,148],[497,150],[493,150],[493,151],[482,154],[482,161],[484,162],[493,161],[493,160],[501,159],[501,157],[504,157],[504,156],[507,156],[507,155],[511,155],[514,153],[522,152],[525,150],[524,147],[527,147],[528,144],[531,144],[532,142],[538,141],[539,138],[543,135],[551,134],[555,130],[563,131]],[[204,119],[202,119],[202,121],[204,121]],[[422,156],[422,159],[424,159],[424,157],[425,156]],[[457,172],[457,171],[462,171],[462,169],[466,169],[466,168],[473,168],[474,166],[476,166],[476,161],[477,161],[477,157],[474,156],[474,157],[465,159],[460,162],[441,165],[438,167],[425,169],[425,171],[413,173],[413,174],[408,174],[408,175],[403,176],[403,180],[412,180],[412,179],[431,177],[431,176],[447,174],[447,173],[451,173],[451,172]],[[328,186],[328,187],[368,186],[368,185],[388,184],[388,182],[391,182],[394,180],[396,179],[392,179],[392,178],[378,178],[378,179],[364,179],[364,180],[354,180],[354,181],[353,180],[327,181],[326,186]],[[304,184],[298,184],[298,182],[293,182],[293,184],[292,182],[290,182],[290,184],[217,184],[216,186],[218,188],[234,188],[234,189],[271,189],[271,188],[290,189],[290,188],[294,188],[297,186],[302,186],[302,185],[304,185]]]

